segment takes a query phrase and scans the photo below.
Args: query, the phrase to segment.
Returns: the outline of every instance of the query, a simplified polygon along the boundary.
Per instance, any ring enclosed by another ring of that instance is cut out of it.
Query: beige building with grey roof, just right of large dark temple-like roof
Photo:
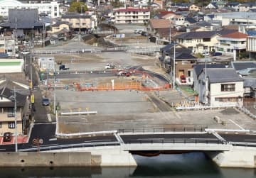
[[[95,16],[80,13],[66,13],[61,16],[61,21],[70,23],[74,30],[91,31],[97,26]]]

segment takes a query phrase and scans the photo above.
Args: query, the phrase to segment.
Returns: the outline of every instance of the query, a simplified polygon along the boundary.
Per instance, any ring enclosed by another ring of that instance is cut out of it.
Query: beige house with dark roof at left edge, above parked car
[[[8,81],[7,81],[8,82]],[[15,133],[14,89],[6,87],[6,81],[0,84],[0,135],[6,132]],[[29,124],[28,97],[16,92],[17,133],[27,133]]]

